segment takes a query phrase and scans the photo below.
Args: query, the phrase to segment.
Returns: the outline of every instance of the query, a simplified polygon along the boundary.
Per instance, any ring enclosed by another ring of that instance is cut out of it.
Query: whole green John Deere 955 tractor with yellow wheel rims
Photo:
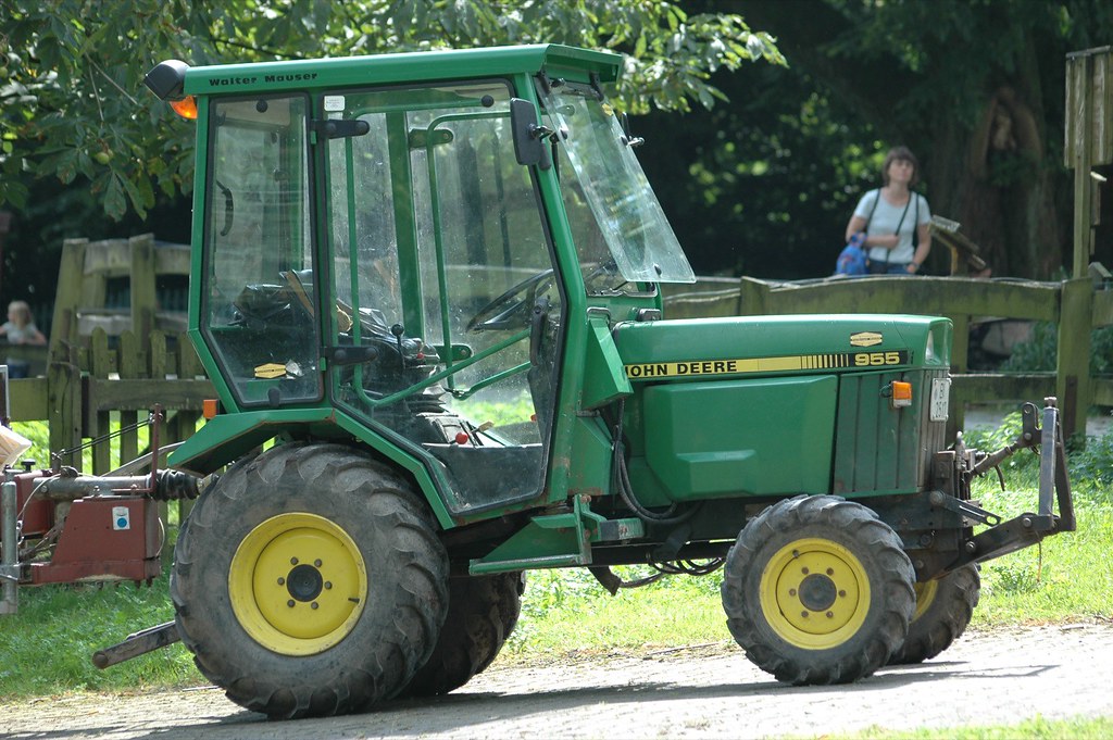
[[[189,336],[218,413],[170,464],[175,630],[272,717],[432,695],[486,668],[524,571],[706,574],[748,658],[839,683],[944,650],[982,561],[1072,530],[1058,415],[948,446],[952,326],[666,320],[695,280],[608,102],[563,46],[191,68]],[[1036,511],[974,475],[1038,446]],[[1056,506],[1057,503],[1057,506]],[[1057,513],[1056,513],[1057,511]]]

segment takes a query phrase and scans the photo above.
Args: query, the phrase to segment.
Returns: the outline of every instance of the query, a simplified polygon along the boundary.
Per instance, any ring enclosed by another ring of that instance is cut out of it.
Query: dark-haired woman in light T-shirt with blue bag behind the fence
[[[907,147],[889,149],[881,165],[881,187],[861,196],[846,225],[846,240],[866,234],[871,275],[915,275],[932,250],[927,198],[913,193],[919,162]]]

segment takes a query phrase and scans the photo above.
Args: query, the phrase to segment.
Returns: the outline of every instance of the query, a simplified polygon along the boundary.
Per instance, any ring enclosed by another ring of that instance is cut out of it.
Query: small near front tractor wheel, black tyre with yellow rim
[[[904,642],[915,572],[865,506],[799,496],[747,524],[727,556],[722,603],[747,658],[777,680],[847,683]]]

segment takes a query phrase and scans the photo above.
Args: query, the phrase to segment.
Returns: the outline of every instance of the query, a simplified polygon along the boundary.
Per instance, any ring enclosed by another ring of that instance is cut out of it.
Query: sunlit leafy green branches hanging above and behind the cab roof
[[[618,93],[632,110],[687,110],[722,95],[717,69],[782,63],[772,39],[731,14],[669,2],[494,0],[16,0],[0,6],[0,205],[28,204],[28,176],[87,181],[114,219],[157,194],[188,194],[193,127],[144,91],[169,58],[191,65],[562,42],[630,55]]]

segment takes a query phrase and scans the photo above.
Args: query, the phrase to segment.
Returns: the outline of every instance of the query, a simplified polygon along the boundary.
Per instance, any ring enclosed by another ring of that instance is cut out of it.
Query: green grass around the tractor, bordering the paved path
[[[981,437],[971,435],[968,443],[989,447],[996,442],[994,435],[1009,434],[1007,428],[991,431]],[[1107,556],[1113,551],[1113,482],[1105,477],[1113,474],[1111,461],[1110,437],[1091,441],[1085,452],[1072,455],[1078,531],[985,564],[975,629],[1113,616],[1107,600],[1107,594],[1113,593],[1113,560]],[[983,506],[1006,516],[1031,510],[1037,471],[1038,461],[1025,453],[1007,465],[1009,492],[996,490],[995,480],[983,480],[976,496]],[[622,574],[631,579],[644,571],[624,569]],[[89,660],[96,649],[171,619],[166,588],[164,574],[150,588],[140,589],[118,585],[21,590],[19,614],[0,618],[0,697],[127,692],[205,683],[180,644],[107,671],[98,671]],[[719,602],[718,574],[667,578],[611,596],[582,569],[535,571],[530,574],[519,626],[500,660],[532,663],[613,652],[644,654],[674,645],[708,643],[732,644]],[[940,734],[859,737],[1041,738],[1057,737],[1060,731],[1072,737],[1107,737],[1109,722],[1077,720],[1064,726],[1037,718],[1003,728],[999,734],[955,734],[947,730]],[[963,730],[967,731],[983,732]]]

